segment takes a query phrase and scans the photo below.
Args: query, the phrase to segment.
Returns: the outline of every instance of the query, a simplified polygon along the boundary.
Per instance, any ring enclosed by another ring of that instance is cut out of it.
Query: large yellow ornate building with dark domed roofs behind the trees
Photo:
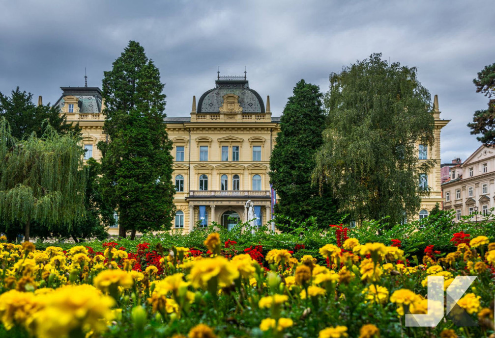
[[[55,103],[67,121],[79,123],[83,130],[85,159],[99,160],[99,141],[103,133],[104,100],[98,87],[61,87]],[[440,131],[448,120],[440,119],[435,96],[435,145],[426,149],[418,144],[420,159],[435,159],[437,166],[423,182],[431,194],[424,198],[422,217],[442,204],[440,188]],[[237,220],[247,221],[246,202],[254,205],[260,224],[271,218],[269,181],[270,156],[280,130],[280,118],[272,117],[270,97],[265,102],[249,88],[246,76],[218,76],[215,87],[193,103],[190,117],[167,117],[169,138],[173,142],[177,207],[173,227],[190,232],[195,226],[217,222],[230,228]],[[118,234],[118,221],[109,233]]]

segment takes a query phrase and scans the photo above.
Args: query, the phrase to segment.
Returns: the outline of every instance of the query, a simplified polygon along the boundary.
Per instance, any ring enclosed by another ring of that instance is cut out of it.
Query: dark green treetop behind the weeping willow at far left
[[[33,132],[41,138],[45,120],[48,120],[50,126],[61,134],[81,131],[79,125],[67,123],[65,114],[62,116],[59,114],[60,109],[50,106],[49,103],[36,106],[33,103],[33,94],[20,91],[19,87],[12,90],[11,96],[0,93],[0,117],[8,121],[12,136],[17,139],[27,138]]]

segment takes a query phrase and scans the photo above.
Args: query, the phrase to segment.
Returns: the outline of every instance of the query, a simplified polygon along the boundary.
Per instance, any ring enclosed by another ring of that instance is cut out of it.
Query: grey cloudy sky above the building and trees
[[[442,162],[480,143],[466,124],[487,99],[472,79],[495,62],[492,1],[12,1],[0,0],[0,91],[17,85],[54,103],[60,86],[101,86],[129,40],[166,83],[168,116],[188,116],[193,95],[242,75],[280,116],[300,79],[328,76],[373,52],[417,66],[439,95]]]

